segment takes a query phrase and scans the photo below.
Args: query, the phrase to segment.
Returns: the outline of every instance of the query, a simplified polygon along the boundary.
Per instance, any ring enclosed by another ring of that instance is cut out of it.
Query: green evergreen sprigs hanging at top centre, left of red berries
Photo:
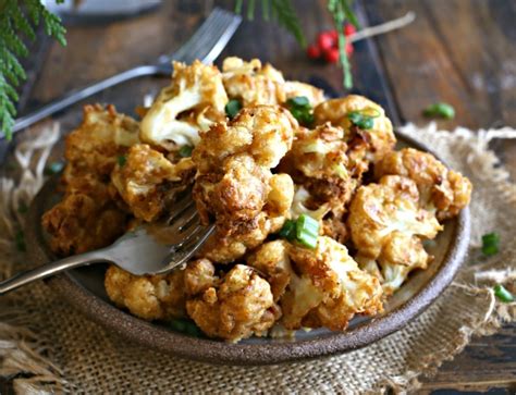
[[[255,17],[256,0],[247,0],[246,16],[253,21]],[[306,38],[303,34],[303,29],[299,25],[299,18],[296,15],[292,0],[261,0],[261,15],[265,21],[269,21],[272,16],[281,26],[288,30],[299,42],[299,45],[306,47]],[[353,0],[328,0],[328,11],[332,15],[333,24],[339,34],[339,58],[343,71],[343,84],[346,89],[353,87],[353,77],[349,67],[349,60],[346,53],[346,37],[343,33],[343,25],[345,21],[348,21],[355,27],[359,28],[358,20],[353,12],[352,8]],[[236,0],[235,13],[243,14],[244,12],[244,0]]]

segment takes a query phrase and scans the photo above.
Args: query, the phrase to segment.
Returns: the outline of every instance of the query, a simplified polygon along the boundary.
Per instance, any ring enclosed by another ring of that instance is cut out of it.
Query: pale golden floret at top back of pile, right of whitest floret
[[[258,59],[245,62],[226,58],[222,65],[224,87],[232,99],[244,107],[253,104],[282,104],[287,99],[304,96],[311,107],[324,100],[321,89],[296,81],[285,81],[283,74]]]

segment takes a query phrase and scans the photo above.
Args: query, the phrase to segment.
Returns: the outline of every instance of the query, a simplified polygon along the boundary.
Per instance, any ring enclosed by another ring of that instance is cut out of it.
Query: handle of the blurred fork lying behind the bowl
[[[126,81],[134,79],[146,75],[165,75],[171,73],[171,67],[161,64],[149,64],[140,65],[123,73],[113,75],[109,78],[100,81],[96,84],[89,85],[83,89],[71,91],[62,98],[51,101],[48,104],[37,109],[36,111],[19,118],[13,126],[13,133],[19,132],[25,127],[33,125],[34,123],[41,121],[42,119],[54,114],[58,111],[64,110],[65,108],[75,104],[76,102],[86,99],[101,90],[113,87],[115,85],[125,83]]]

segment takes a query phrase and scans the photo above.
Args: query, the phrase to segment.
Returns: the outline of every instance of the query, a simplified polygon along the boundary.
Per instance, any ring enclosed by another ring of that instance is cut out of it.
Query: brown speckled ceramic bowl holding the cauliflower
[[[398,135],[400,147],[430,151],[413,139]],[[59,199],[56,180],[47,183],[34,199],[28,213],[27,245],[36,264],[52,260],[40,226],[42,213]],[[150,323],[114,307],[103,288],[106,266],[94,264],[66,272],[48,281],[63,300],[84,312],[108,331],[144,347],[173,356],[212,363],[267,365],[329,356],[367,346],[405,326],[423,311],[452,282],[469,242],[469,210],[449,221],[444,231],[427,246],[435,256],[429,269],[416,271],[389,299],[385,311],[372,319],[354,319],[346,332],[320,329],[298,331],[295,340],[249,338],[237,344],[191,337],[165,324]]]

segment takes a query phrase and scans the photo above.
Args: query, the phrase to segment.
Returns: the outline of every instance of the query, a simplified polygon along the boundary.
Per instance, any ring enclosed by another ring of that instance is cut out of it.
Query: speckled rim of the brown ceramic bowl
[[[396,132],[396,136],[408,143],[409,146],[430,152],[439,158],[425,144],[415,140],[413,137],[400,132]],[[38,195],[49,193],[49,184],[46,183]],[[35,198],[30,205],[27,213],[28,224],[40,222],[42,208],[34,203],[37,201],[38,199]],[[216,365],[272,365],[351,351],[377,342],[402,329],[427,309],[453,281],[466,256],[469,233],[470,213],[469,208],[466,207],[456,217],[456,226],[451,236],[452,242],[439,271],[409,300],[391,312],[372,318],[370,321],[349,331],[342,333],[331,332],[317,338],[297,340],[294,342],[242,344],[191,337],[155,325],[116,308],[96,296],[66,273],[48,279],[46,283],[88,319],[100,324],[110,333],[114,333],[140,346],[181,358]],[[41,226],[27,226],[26,239],[29,245],[33,245],[33,248],[28,251],[29,258],[35,263],[46,263],[49,257],[45,246],[40,243],[42,239]]]

